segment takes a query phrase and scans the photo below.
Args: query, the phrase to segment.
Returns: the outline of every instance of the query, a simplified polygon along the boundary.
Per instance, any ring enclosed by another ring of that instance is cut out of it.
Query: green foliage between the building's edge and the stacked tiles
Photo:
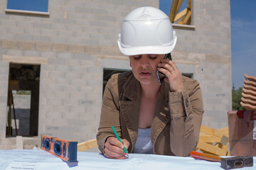
[[[240,105],[242,97],[242,87],[235,90],[235,86],[232,89],[232,110],[233,111],[245,111],[245,108]]]

